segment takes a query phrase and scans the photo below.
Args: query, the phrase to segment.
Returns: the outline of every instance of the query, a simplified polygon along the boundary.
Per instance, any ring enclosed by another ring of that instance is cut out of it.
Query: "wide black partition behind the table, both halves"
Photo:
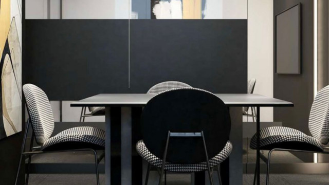
[[[25,82],[50,100],[146,93],[169,80],[246,93],[247,20],[130,23],[129,32],[128,20],[26,20]]]

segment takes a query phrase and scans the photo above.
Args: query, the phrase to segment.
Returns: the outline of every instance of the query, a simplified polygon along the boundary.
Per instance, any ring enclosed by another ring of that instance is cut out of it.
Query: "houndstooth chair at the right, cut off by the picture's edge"
[[[300,151],[324,153],[325,144],[329,141],[329,85],[321,89],[310,109],[308,128],[312,136],[308,136],[294,128],[273,126],[260,131],[260,149],[269,150],[267,162],[267,179],[269,180],[270,155],[273,151]],[[256,149],[257,135],[250,141],[250,148]]]

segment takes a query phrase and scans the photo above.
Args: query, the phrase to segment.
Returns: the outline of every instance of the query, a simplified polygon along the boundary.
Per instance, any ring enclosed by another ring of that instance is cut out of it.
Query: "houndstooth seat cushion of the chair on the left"
[[[105,132],[100,128],[79,126],[69,128],[47,139],[41,146],[42,151],[94,149],[104,150]]]

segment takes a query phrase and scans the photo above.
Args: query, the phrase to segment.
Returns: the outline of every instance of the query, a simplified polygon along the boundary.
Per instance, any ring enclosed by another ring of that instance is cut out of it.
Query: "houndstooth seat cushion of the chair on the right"
[[[260,149],[269,144],[282,143],[282,142],[302,142],[312,144],[323,150],[323,145],[319,140],[312,136],[308,136],[301,131],[294,128],[284,126],[271,126],[263,128],[260,131]],[[257,149],[257,135],[253,135],[250,140],[250,148]],[[307,150],[307,149],[305,149]]]

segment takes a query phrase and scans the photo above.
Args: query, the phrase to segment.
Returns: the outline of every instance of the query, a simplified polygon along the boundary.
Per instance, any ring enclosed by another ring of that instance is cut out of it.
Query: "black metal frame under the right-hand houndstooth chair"
[[[329,147],[324,147],[324,149],[329,149]],[[304,153],[317,153],[317,154],[329,154],[327,151],[323,152],[315,152],[315,151],[305,151],[305,150],[292,150],[292,149],[272,149],[268,152],[267,158],[263,154],[260,154],[260,158],[267,164],[267,170],[266,170],[266,185],[269,184],[269,170],[270,170],[270,160],[271,160],[271,154],[274,151],[285,151],[285,152],[304,152]],[[258,171],[258,168],[256,166],[255,168],[255,176]],[[253,180],[253,184],[255,184],[255,179]]]

